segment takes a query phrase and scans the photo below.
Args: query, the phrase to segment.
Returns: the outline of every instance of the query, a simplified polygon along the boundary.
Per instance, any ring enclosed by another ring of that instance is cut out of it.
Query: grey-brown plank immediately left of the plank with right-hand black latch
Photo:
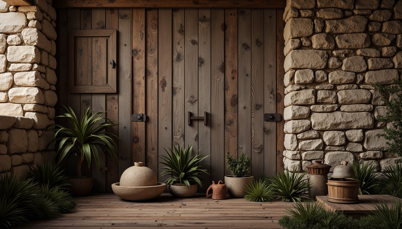
[[[251,168],[264,173],[264,10],[251,10]]]

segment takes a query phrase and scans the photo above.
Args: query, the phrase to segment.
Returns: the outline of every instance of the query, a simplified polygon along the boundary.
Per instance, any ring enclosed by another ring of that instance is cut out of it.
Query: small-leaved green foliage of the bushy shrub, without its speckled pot
[[[250,172],[251,158],[249,156],[244,156],[241,153],[239,158],[233,158],[229,152],[226,152],[226,168],[232,172],[233,177],[246,177],[248,172]]]

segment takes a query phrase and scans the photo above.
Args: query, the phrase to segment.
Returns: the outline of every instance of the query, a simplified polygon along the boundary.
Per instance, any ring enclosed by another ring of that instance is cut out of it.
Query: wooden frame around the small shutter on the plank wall
[[[70,93],[117,93],[117,68],[107,67],[106,85],[75,85],[75,37],[107,36],[107,60],[117,60],[117,30],[70,30]],[[117,66],[117,65],[116,65]]]

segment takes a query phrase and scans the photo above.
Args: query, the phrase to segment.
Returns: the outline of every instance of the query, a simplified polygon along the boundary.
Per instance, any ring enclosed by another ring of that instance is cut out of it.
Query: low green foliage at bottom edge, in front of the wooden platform
[[[374,229],[367,217],[360,220],[345,217],[340,212],[326,211],[322,204],[306,201],[296,202],[295,209],[279,219],[279,225],[288,229]]]

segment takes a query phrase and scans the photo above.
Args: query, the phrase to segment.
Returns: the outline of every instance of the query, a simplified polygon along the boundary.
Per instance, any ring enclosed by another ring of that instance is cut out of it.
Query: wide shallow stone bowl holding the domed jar
[[[129,187],[120,186],[120,182],[112,184],[113,192],[127,201],[147,201],[159,197],[166,188],[166,184],[158,182],[155,186]]]

